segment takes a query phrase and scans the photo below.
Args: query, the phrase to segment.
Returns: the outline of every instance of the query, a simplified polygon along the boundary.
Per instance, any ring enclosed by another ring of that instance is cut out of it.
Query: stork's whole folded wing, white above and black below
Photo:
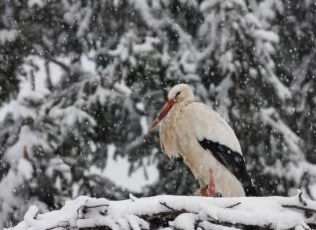
[[[228,123],[200,103],[189,105],[186,114],[191,116],[192,127],[202,148],[213,154],[237,178],[247,196],[258,195],[247,172],[239,141]]]

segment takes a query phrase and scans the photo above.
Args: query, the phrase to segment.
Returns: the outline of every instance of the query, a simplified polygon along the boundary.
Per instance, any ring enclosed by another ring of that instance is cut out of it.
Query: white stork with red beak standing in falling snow
[[[170,90],[150,130],[160,122],[162,149],[169,157],[183,158],[200,183],[201,195],[258,195],[234,131],[218,113],[195,102],[188,85]]]

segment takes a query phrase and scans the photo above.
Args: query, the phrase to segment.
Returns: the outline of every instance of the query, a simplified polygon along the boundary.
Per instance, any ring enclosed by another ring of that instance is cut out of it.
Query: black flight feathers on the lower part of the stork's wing
[[[207,139],[199,140],[199,143],[203,149],[209,150],[216,160],[223,164],[237,178],[243,185],[246,196],[259,196],[247,172],[245,159],[241,154],[231,150],[226,145]]]

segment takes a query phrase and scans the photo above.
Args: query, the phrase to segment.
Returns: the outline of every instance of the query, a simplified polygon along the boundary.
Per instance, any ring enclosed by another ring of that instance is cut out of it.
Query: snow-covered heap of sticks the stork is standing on
[[[32,206],[11,230],[43,229],[313,229],[316,202],[294,197],[210,198],[161,195],[129,200],[81,196],[60,210]]]

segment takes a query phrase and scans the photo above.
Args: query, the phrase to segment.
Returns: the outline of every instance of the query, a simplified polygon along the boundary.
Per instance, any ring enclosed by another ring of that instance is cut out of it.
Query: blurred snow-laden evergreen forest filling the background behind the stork
[[[148,133],[182,82],[263,195],[314,200],[315,28],[313,0],[0,1],[0,229],[80,195],[194,195]]]

